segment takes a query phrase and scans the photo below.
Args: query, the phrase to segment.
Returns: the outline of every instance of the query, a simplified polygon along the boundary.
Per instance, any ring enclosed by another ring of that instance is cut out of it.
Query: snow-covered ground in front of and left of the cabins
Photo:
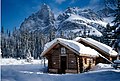
[[[120,81],[120,70],[108,64],[100,63],[92,69],[94,71],[82,74],[43,73],[43,67],[41,60],[27,63],[25,60],[2,59],[2,81]]]

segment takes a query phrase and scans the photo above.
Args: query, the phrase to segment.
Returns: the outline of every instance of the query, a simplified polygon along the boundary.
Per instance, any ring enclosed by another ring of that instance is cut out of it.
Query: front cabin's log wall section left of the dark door
[[[58,73],[60,69],[60,45],[56,45],[52,50],[46,54],[48,59],[48,70],[50,73]]]

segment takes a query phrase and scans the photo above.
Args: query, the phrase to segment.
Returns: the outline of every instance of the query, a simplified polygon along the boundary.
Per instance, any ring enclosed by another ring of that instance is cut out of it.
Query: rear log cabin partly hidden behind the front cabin
[[[96,64],[98,63],[112,63],[117,58],[117,52],[113,50],[110,46],[98,42],[91,38],[76,37],[73,39],[85,46],[88,46],[99,53],[99,57],[96,59]]]

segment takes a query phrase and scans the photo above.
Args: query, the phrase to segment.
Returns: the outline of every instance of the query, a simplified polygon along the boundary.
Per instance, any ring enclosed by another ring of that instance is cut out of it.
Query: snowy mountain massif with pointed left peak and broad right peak
[[[50,7],[43,4],[37,13],[24,20],[20,31],[49,34],[54,30],[57,36],[63,32],[66,37],[85,34],[102,36],[106,24],[104,19],[93,10],[78,7],[67,8],[55,19]]]

